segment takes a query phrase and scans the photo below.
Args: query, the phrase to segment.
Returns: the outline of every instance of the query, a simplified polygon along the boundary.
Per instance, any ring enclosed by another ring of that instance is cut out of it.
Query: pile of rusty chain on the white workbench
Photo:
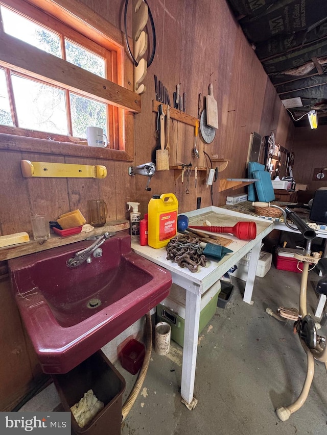
[[[167,245],[167,260],[175,261],[180,267],[197,272],[199,266],[205,266],[206,257],[197,237],[177,235]]]

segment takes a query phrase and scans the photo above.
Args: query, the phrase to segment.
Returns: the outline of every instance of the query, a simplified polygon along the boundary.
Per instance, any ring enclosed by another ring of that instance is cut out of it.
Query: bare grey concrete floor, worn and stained
[[[279,421],[274,411],[300,393],[306,355],[292,332],[293,322],[278,322],[265,309],[298,307],[300,276],[272,265],[264,278],[255,280],[252,306],[242,300],[245,283],[232,278],[236,287],[232,300],[225,309],[217,308],[199,337],[196,408],[189,411],[180,401],[182,348],[171,342],[166,356],[153,350],[141,394],[122,424],[122,435],[326,434],[327,375],[321,363],[315,363],[310,394],[300,410],[286,422]],[[312,315],[317,304],[312,282],[317,280],[318,275],[310,272],[308,312]],[[318,333],[327,336],[326,327]],[[115,365],[126,379],[124,403],[136,375]],[[50,386],[21,411],[36,411],[37,400],[50,410],[58,396]]]

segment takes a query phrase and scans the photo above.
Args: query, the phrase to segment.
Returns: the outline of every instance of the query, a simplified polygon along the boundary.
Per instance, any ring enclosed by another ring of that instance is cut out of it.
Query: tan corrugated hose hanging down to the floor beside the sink
[[[151,351],[152,351],[152,322],[151,322],[151,315],[150,312],[148,312],[145,315],[146,318],[146,331],[147,331],[147,343],[146,343],[146,351],[144,355],[144,361],[141,367],[141,370],[138,373],[136,382],[134,384],[134,387],[132,388],[132,391],[129,393],[129,396],[127,397],[123,407],[122,407],[122,422],[127,417],[128,413],[130,412],[138,393],[141,391],[143,382],[145,380],[150,358],[151,358]]]

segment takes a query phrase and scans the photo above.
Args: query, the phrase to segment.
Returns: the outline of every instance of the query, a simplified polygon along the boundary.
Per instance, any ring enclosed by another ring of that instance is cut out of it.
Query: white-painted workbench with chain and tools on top
[[[209,220],[212,225],[234,226],[238,221],[254,221],[256,223],[256,238],[254,240],[239,240],[230,234],[221,236],[231,239],[233,242],[228,245],[232,253],[217,262],[207,261],[205,267],[200,267],[195,273],[187,268],[180,268],[177,263],[167,260],[166,247],[154,249],[150,246],[140,246],[138,242],[132,242],[132,249],[142,257],[158,264],[169,270],[172,274],[173,283],[186,289],[185,302],[185,329],[184,329],[184,348],[182,362],[181,396],[183,402],[189,409],[193,409],[197,399],[193,397],[196,355],[199,335],[200,304],[201,295],[213,286],[222,275],[224,275],[233,265],[235,265],[250,250],[251,259],[243,300],[252,304],[252,291],[255,279],[256,266],[258,264],[262,239],[274,228],[273,222],[243,213],[225,210],[219,207],[206,207],[183,213],[189,217],[190,225],[203,225],[205,220]]]

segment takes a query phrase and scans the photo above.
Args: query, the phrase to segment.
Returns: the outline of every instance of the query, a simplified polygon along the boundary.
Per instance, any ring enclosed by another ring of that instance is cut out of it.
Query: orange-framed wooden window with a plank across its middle
[[[60,19],[67,15],[56,7]],[[80,3],[76,8],[87,14]],[[0,0],[0,13],[0,133],[80,143],[86,127],[95,125],[111,149],[127,150],[122,160],[131,160],[125,111],[139,112],[140,100],[121,87],[123,47],[106,35],[92,35],[82,18],[66,25],[52,16],[54,9],[48,15],[24,0]]]

